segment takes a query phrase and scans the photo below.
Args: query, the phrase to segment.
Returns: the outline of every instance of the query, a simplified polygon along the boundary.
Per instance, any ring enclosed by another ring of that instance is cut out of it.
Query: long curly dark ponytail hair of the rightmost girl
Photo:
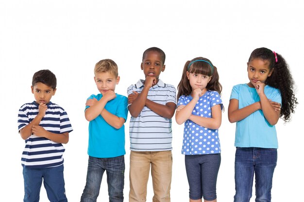
[[[297,98],[294,93],[294,80],[291,77],[289,66],[285,59],[278,53],[271,51],[266,47],[260,47],[253,50],[248,62],[253,59],[261,59],[269,62],[270,70],[273,69],[272,74],[265,81],[265,84],[279,89],[282,96],[282,107],[280,117],[289,122],[291,113],[294,113],[296,108]]]

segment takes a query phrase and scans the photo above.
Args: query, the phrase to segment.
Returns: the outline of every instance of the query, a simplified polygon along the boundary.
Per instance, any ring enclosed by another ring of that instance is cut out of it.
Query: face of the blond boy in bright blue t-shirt
[[[119,79],[119,76],[116,78],[115,75],[110,72],[96,73],[94,77],[97,89],[102,95],[108,90],[115,92],[115,86],[118,84]]]

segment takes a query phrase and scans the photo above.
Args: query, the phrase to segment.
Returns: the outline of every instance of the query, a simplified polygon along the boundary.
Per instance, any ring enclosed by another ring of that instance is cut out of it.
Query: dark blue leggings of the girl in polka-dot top
[[[185,155],[189,183],[189,198],[213,201],[217,199],[217,178],[220,154]]]

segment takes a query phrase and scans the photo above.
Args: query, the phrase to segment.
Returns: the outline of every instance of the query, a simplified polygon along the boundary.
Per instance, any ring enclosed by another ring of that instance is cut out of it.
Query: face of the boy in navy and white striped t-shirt
[[[52,89],[50,86],[47,86],[41,82],[36,83],[34,86],[31,86],[32,93],[34,94],[36,103],[48,104],[51,100],[51,97],[55,94],[56,89]]]

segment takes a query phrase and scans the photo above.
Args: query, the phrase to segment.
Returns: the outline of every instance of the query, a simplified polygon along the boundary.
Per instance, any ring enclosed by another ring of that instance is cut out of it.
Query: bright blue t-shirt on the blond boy
[[[92,94],[88,99],[100,100],[102,94]],[[104,109],[118,117],[127,120],[128,98],[116,93],[116,98],[110,100]],[[89,108],[86,106],[85,109]],[[110,158],[125,155],[125,132],[124,125],[119,129],[109,125],[99,115],[89,123],[89,144],[87,154],[96,158]]]

